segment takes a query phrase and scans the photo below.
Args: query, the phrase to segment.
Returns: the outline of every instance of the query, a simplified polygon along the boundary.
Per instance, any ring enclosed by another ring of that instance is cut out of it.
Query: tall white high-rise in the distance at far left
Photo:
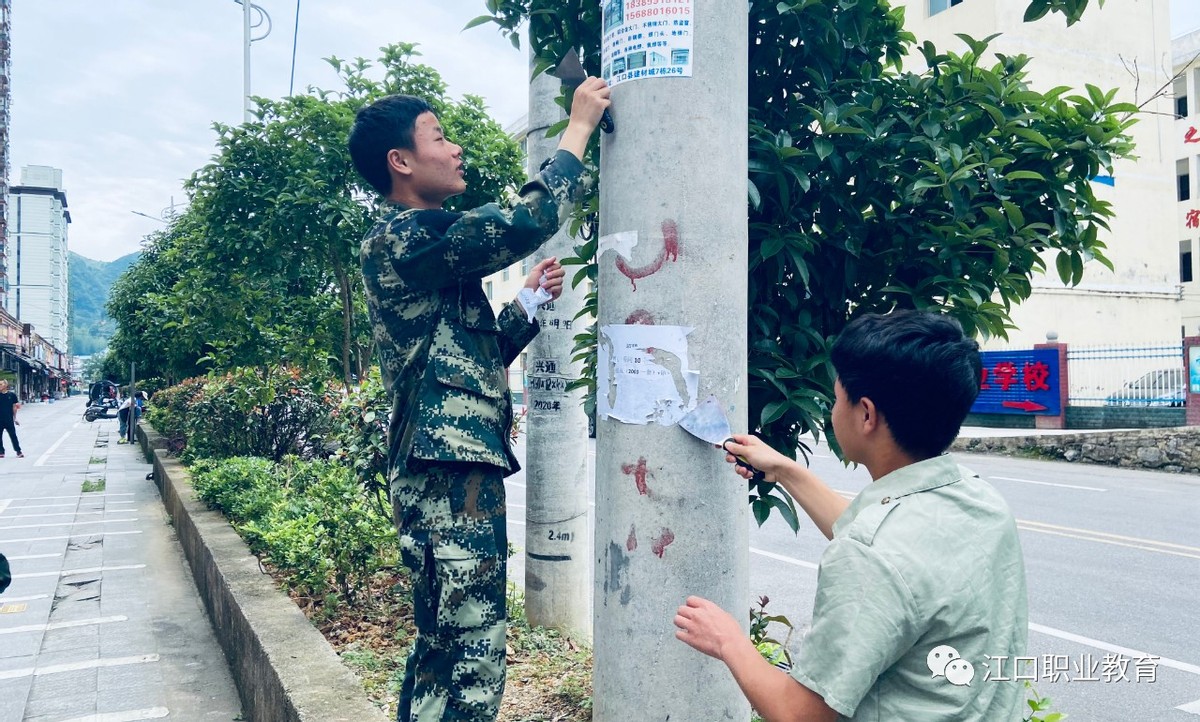
[[[26,166],[12,187],[6,308],[54,348],[67,350],[67,195],[62,172]]]

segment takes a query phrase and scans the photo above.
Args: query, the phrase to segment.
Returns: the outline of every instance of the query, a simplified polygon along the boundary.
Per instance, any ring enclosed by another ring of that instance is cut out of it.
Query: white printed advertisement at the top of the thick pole
[[[694,0],[601,0],[601,74],[608,85],[690,78]]]

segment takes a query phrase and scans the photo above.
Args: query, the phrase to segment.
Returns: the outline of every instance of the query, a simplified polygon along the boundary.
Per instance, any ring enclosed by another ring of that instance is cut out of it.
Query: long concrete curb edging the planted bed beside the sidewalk
[[[252,722],[385,722],[358,678],[276,589],[223,515],[196,500],[191,476],[149,425],[138,438]]]

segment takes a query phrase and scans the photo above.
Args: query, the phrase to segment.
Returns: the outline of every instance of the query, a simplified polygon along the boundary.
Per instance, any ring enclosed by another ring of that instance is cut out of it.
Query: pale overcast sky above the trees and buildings
[[[252,92],[288,92],[296,0],[256,0]],[[1126,1],[1126,0],[1112,0]],[[182,181],[212,155],[214,121],[242,118],[242,17],[235,0],[28,0],[12,11],[12,170],[62,169],[70,247],[97,260],[138,251]],[[526,112],[526,52],[494,25],[462,31],[484,0],[300,0],[295,89],[338,90],[324,58],[374,60],[420,43],[450,95],[480,95],[502,125]],[[1200,28],[1200,0],[1171,0],[1171,35]]]

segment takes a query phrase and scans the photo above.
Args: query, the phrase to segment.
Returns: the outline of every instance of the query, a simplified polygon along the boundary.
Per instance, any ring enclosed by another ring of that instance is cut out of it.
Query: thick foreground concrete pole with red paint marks
[[[690,401],[715,395],[744,431],[748,12],[745,2],[690,5],[692,76],[613,88],[617,131],[601,140],[601,247],[619,233],[636,233],[637,243],[599,257],[600,342],[611,325],[695,329],[686,368],[700,381]],[[692,396],[680,359],[652,343],[640,350],[656,373],[670,369],[680,397]],[[598,393],[611,402],[640,389]],[[676,425],[596,426],[594,720],[748,720],[732,675],[678,642],[673,625],[676,608],[700,595],[749,626],[745,482],[719,450]]]

